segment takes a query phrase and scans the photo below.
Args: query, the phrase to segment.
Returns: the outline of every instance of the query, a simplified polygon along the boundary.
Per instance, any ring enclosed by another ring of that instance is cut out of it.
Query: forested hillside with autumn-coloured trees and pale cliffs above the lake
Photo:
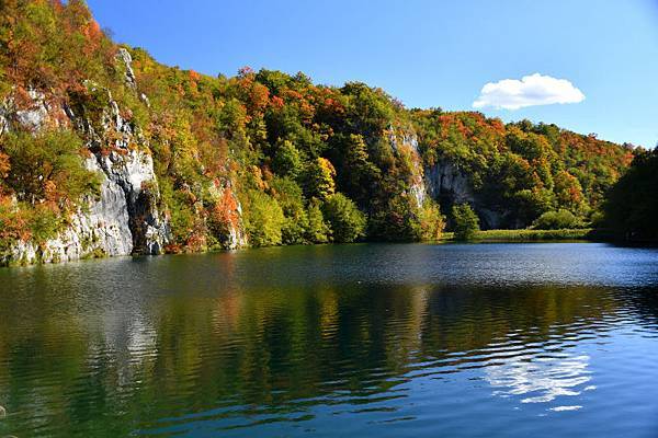
[[[0,14],[5,262],[431,240],[462,203],[485,228],[561,209],[585,224],[635,153],[554,125],[407,110],[360,82],[163,66],[114,44],[81,1],[1,0]]]

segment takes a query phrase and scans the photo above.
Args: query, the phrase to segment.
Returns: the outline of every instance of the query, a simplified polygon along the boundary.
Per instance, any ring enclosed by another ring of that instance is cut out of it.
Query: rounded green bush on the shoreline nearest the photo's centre
[[[330,196],[322,210],[331,227],[336,242],[353,242],[364,235],[365,215],[341,193]]]

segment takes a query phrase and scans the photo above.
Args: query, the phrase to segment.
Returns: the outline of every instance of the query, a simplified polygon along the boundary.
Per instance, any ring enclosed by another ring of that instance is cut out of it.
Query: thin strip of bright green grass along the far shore
[[[556,240],[601,240],[604,235],[594,229],[580,230],[485,230],[477,231],[472,241],[475,242],[536,242]],[[445,232],[442,242],[454,242],[454,233]]]

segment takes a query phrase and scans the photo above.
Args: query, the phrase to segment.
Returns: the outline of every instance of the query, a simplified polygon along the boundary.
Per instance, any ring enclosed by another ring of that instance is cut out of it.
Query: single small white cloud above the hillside
[[[519,110],[525,106],[551,105],[554,103],[578,103],[585,94],[566,79],[534,73],[521,80],[503,79],[488,82],[473,102],[474,108]]]

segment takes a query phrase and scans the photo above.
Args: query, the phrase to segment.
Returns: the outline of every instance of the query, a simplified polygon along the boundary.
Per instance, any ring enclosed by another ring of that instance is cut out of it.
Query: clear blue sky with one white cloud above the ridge
[[[362,81],[407,107],[476,110],[658,142],[658,0],[88,0],[114,39],[206,74]]]

